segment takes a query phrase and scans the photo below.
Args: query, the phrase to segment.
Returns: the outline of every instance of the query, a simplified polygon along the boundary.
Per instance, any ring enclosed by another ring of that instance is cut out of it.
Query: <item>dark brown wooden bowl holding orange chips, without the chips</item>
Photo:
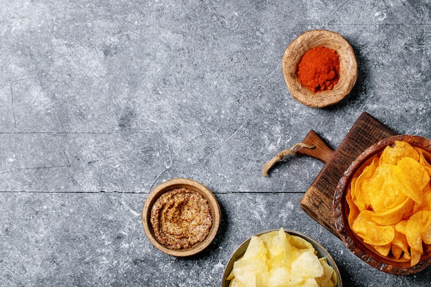
[[[343,240],[344,244],[346,244],[347,248],[350,249],[353,254],[370,264],[370,266],[385,273],[392,275],[411,275],[430,266],[431,251],[424,253],[419,263],[410,267],[410,260],[396,260],[391,257],[379,255],[371,246],[368,246],[360,237],[355,235],[348,224],[349,207],[346,202],[346,193],[350,186],[350,181],[361,173],[361,170],[369,164],[374,156],[379,155],[388,145],[393,145],[395,140],[403,140],[410,143],[413,147],[423,149],[423,151],[425,151],[425,158],[428,161],[431,160],[431,140],[420,136],[391,136],[390,138],[385,138],[375,145],[368,147],[368,149],[361,153],[356,160],[350,164],[344,176],[339,180],[334,195],[333,216],[335,228],[337,228],[341,240]]]

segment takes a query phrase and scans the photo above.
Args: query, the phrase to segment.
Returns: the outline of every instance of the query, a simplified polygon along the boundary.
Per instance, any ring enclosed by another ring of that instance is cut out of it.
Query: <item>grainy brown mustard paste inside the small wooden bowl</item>
[[[160,195],[151,208],[151,225],[160,244],[170,249],[190,248],[207,238],[213,224],[207,199],[180,188]]]

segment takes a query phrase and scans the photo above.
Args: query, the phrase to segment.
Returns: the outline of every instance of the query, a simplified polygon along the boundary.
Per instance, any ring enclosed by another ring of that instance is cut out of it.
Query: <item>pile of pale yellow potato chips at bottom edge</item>
[[[251,237],[244,255],[234,262],[229,287],[334,287],[335,270],[318,258],[310,242],[283,228]]]

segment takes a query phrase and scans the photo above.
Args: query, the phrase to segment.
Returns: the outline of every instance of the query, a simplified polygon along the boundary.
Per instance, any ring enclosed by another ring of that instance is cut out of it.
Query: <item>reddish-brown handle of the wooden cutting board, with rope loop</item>
[[[325,164],[333,158],[334,150],[326,145],[326,142],[324,142],[313,129],[306,135],[304,140],[302,140],[302,143],[306,145],[315,145],[315,148],[306,149],[304,147],[298,147],[296,153],[317,158],[318,160],[322,160]]]

